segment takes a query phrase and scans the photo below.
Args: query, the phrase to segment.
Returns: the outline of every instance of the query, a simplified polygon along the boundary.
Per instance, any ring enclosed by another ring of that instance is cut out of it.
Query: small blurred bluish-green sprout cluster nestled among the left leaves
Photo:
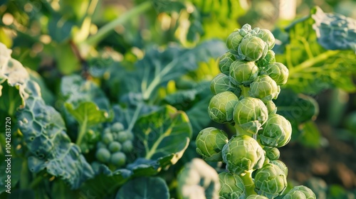
[[[126,154],[133,149],[132,132],[125,131],[120,122],[106,127],[101,135],[101,141],[97,144],[95,158],[101,163],[107,163],[115,167],[125,166]]]

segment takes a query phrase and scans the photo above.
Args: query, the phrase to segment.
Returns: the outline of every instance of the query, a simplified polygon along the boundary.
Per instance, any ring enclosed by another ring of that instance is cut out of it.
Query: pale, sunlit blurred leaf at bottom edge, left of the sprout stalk
[[[186,163],[178,174],[177,193],[180,198],[218,198],[219,188],[218,173],[200,158]]]

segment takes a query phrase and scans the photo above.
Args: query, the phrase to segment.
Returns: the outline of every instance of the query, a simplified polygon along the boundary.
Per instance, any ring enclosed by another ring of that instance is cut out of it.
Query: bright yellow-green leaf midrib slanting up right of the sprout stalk
[[[306,60],[303,63],[300,63],[299,65],[295,65],[294,68],[289,69],[289,77],[293,77],[293,73],[300,72],[301,70],[304,70],[305,68],[312,67],[313,65],[323,62],[330,58],[333,55],[337,55],[337,53],[340,53],[340,50],[328,50],[325,53],[321,53],[320,55],[316,56],[313,59]]]

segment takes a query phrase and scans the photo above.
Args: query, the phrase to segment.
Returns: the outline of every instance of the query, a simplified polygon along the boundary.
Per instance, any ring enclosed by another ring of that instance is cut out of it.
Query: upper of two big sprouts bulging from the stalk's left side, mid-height
[[[218,123],[231,122],[234,107],[237,102],[239,102],[239,98],[230,91],[224,91],[214,95],[209,102],[209,117]]]

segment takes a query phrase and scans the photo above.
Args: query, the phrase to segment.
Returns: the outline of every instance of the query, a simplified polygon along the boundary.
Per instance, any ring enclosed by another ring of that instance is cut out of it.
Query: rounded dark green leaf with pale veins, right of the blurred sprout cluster
[[[172,164],[182,157],[180,151],[186,149],[192,137],[187,114],[168,105],[138,119],[134,131],[140,141],[136,148],[140,156],[147,159],[177,156],[171,160]]]

